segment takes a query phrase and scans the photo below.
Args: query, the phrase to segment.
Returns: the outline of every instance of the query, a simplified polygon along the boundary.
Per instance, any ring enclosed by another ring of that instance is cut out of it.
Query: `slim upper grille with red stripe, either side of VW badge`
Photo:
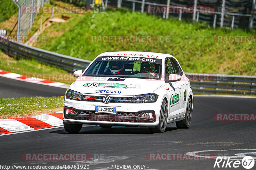
[[[87,102],[102,102],[104,96],[84,96],[82,101]],[[132,97],[111,97],[110,103],[134,103]]]

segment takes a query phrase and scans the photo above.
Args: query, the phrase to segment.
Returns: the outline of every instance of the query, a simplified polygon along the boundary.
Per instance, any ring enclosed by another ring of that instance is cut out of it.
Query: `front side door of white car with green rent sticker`
[[[165,59],[165,80],[169,79],[170,74],[174,74],[170,58]],[[176,118],[180,113],[180,98],[181,98],[181,87],[179,81],[167,82],[169,84],[167,88],[168,96],[170,96],[169,103],[169,114],[168,119]]]

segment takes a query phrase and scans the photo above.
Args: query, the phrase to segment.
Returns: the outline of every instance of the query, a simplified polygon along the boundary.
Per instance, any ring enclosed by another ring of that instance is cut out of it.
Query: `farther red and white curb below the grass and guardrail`
[[[0,76],[10,78],[10,79],[15,79],[15,80],[27,81],[27,82],[36,83],[36,84],[44,84],[48,86],[61,87],[65,89],[67,89],[69,86],[68,84],[64,84],[60,82],[44,80],[36,77],[29,77],[21,74],[11,73],[4,70],[0,70]]]

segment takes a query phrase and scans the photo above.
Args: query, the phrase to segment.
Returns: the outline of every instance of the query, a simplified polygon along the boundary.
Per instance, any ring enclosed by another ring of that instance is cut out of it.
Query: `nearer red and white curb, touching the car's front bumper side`
[[[0,134],[63,126],[63,111],[33,117],[0,119]]]

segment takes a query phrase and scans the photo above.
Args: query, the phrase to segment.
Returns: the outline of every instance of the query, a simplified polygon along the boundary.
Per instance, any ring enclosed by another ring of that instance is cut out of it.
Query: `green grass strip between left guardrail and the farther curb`
[[[48,65],[41,64],[35,60],[26,59],[14,59],[7,56],[0,50],[0,69],[4,71],[9,71],[12,73],[33,76],[36,78],[44,78],[46,80],[58,81],[66,84],[71,84],[75,81],[75,78],[68,72]],[[58,78],[54,78],[52,75],[57,74]],[[68,77],[71,79],[61,79],[64,74],[69,74]],[[43,77],[44,76],[44,77]]]

